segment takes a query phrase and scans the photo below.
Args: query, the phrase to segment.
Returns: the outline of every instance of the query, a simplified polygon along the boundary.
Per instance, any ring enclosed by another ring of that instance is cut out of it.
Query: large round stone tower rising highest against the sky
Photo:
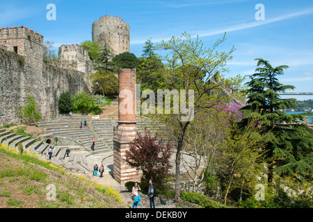
[[[114,56],[129,52],[129,24],[120,17],[102,16],[93,22],[93,41],[106,45]]]

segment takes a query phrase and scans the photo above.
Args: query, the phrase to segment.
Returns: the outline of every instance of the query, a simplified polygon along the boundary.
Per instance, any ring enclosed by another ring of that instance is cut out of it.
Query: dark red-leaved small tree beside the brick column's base
[[[160,182],[172,167],[171,155],[171,142],[164,144],[158,135],[152,136],[149,130],[145,130],[145,135],[138,132],[136,139],[131,142],[126,152],[126,162],[129,166],[143,171],[143,180]]]

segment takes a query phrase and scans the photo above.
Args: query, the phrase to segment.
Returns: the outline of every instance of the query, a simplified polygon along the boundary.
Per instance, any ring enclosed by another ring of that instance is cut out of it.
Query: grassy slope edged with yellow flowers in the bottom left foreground
[[[118,192],[0,145],[0,207],[121,208]],[[55,186],[55,196],[53,187]]]

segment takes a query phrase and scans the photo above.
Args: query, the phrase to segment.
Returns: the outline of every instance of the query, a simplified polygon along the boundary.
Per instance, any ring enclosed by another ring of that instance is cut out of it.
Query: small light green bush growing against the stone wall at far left
[[[27,96],[26,105],[24,107],[22,106],[19,107],[19,115],[22,117],[23,121],[28,125],[31,125],[37,122],[38,120],[42,119],[38,105],[35,99],[33,99],[33,96],[31,94]]]

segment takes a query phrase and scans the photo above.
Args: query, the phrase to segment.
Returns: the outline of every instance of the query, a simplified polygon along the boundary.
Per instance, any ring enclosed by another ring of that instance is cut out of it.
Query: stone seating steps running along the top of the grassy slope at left
[[[42,160],[49,160],[47,152],[51,144],[37,141],[37,139],[31,139],[31,137],[23,137],[22,135],[16,135],[3,129],[0,130],[0,144],[13,149],[18,149],[18,144],[21,144],[23,151],[28,150],[31,153],[37,154]],[[81,171],[83,173],[93,172],[94,163],[93,160],[88,160],[88,156],[91,155],[89,152],[75,151],[75,148],[72,148],[70,157],[66,157],[66,148],[67,146],[54,146],[50,161],[72,171]]]

